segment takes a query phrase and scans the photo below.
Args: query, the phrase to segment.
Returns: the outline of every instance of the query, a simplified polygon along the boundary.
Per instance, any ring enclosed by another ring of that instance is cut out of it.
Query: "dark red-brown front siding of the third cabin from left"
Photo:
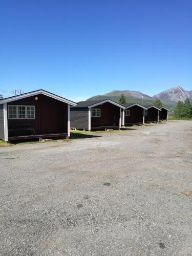
[[[130,110],[130,116],[124,117],[124,124],[126,123],[143,123],[143,109],[140,106],[132,106],[127,109]]]

